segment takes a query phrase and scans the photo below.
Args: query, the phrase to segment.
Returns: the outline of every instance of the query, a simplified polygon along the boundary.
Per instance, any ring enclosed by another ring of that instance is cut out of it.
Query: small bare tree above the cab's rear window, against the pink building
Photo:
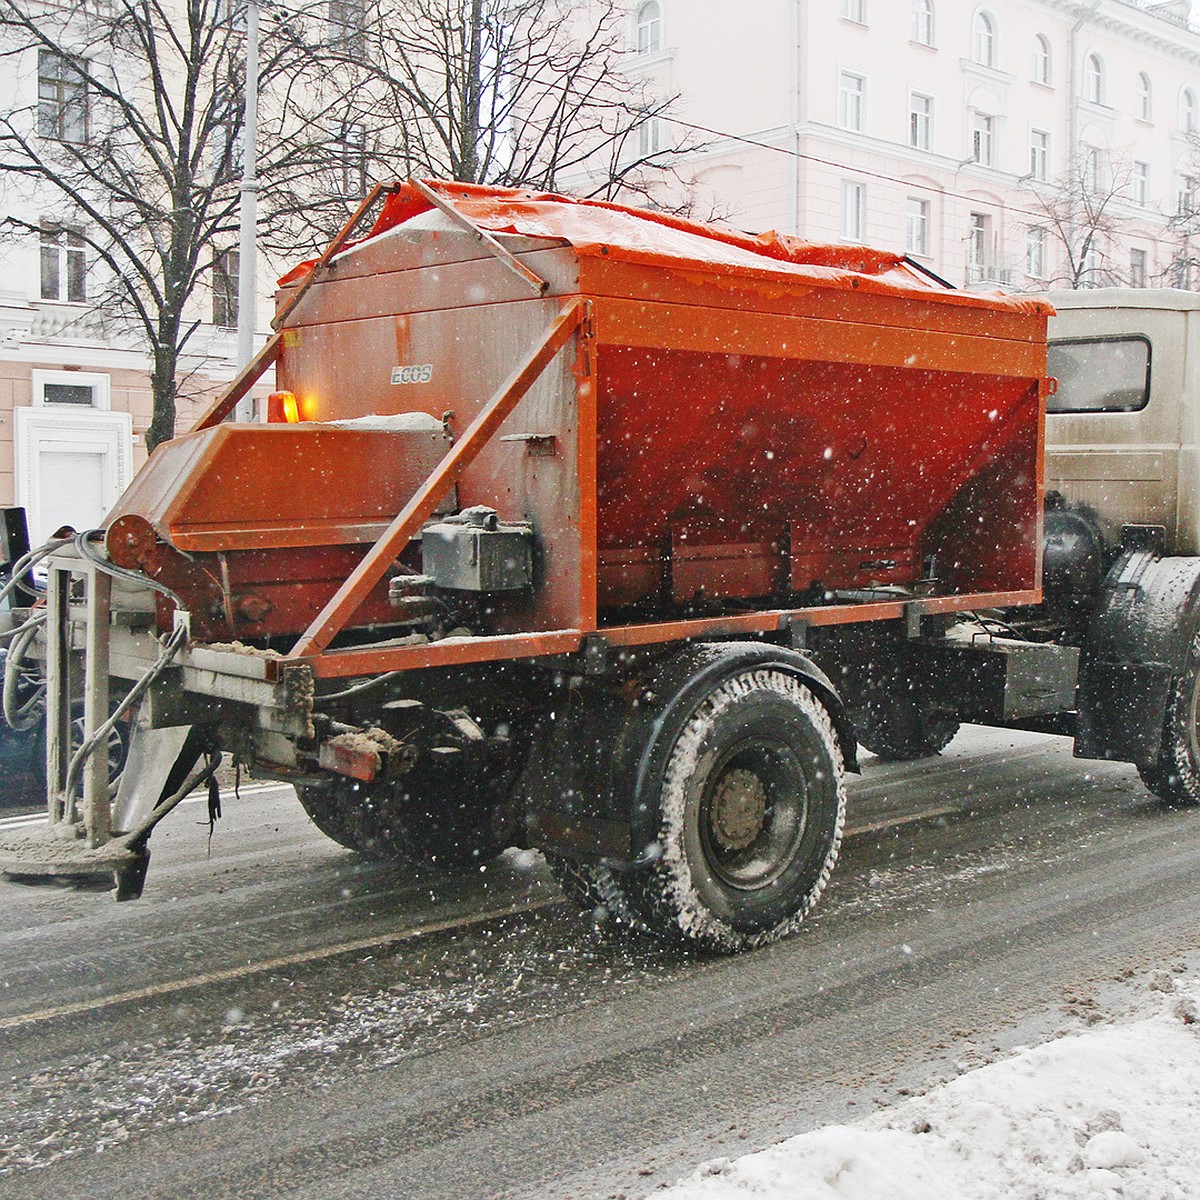
[[[1052,286],[1078,289],[1126,282],[1103,253],[1121,230],[1117,209],[1130,176],[1128,163],[1105,166],[1098,151],[1085,148],[1055,182],[1027,180],[1044,217],[1034,227],[1049,232],[1061,251],[1062,268],[1049,278]]]

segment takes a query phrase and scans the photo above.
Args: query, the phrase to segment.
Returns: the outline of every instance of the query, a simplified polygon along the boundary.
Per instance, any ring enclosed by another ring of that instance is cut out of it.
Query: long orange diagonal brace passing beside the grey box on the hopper
[[[518,364],[512,374],[484,406],[463,433],[462,439],[446,452],[433,474],[416,490],[416,493],[396,515],[379,540],[367,551],[362,562],[350,572],[346,582],[305,630],[288,655],[290,659],[304,659],[320,654],[346,628],[347,622],[366,600],[371,589],[384,577],[397,556],[409,544],[413,534],[432,516],[458,476],[474,462],[476,455],[487,445],[504,419],[516,408],[521,397],[533,386],[554,355],[578,329],[586,307],[584,300],[575,299],[551,322],[541,341],[526,355],[524,360]]]

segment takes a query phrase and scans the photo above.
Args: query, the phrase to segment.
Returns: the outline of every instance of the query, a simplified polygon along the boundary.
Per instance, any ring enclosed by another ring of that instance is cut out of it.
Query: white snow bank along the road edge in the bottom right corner
[[[1200,978],[1159,972],[1152,988],[1156,1015],[1024,1050],[853,1126],[714,1159],[655,1196],[1193,1200]]]

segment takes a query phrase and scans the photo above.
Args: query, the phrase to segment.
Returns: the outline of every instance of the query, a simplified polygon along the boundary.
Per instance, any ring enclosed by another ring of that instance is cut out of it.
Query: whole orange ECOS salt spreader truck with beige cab
[[[899,256],[377,191],[104,527],[13,564],[50,823],[10,875],[140,894],[224,755],[359,853],[536,847],[733,950],[816,901],[859,743],[1061,728],[1200,798],[1200,301],[1056,298],[1048,367],[1049,302]]]

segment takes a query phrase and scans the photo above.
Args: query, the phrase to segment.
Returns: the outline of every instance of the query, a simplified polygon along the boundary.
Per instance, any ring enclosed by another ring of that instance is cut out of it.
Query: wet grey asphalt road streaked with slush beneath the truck
[[[205,858],[202,811],[139,904],[0,887],[0,1192],[640,1196],[1200,946],[1200,812],[1036,736],[868,761],[818,913],[732,960],[592,930],[536,856],[404,876],[259,788]]]

